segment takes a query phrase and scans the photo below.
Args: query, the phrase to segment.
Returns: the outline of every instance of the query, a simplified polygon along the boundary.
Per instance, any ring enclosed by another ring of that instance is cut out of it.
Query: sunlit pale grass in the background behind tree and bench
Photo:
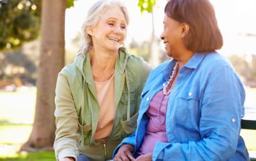
[[[245,106],[256,107],[256,88],[247,88]],[[35,113],[35,88],[25,91],[0,91],[0,161],[51,161],[54,152],[18,152],[32,130]],[[247,149],[256,151],[256,131],[242,129]]]

